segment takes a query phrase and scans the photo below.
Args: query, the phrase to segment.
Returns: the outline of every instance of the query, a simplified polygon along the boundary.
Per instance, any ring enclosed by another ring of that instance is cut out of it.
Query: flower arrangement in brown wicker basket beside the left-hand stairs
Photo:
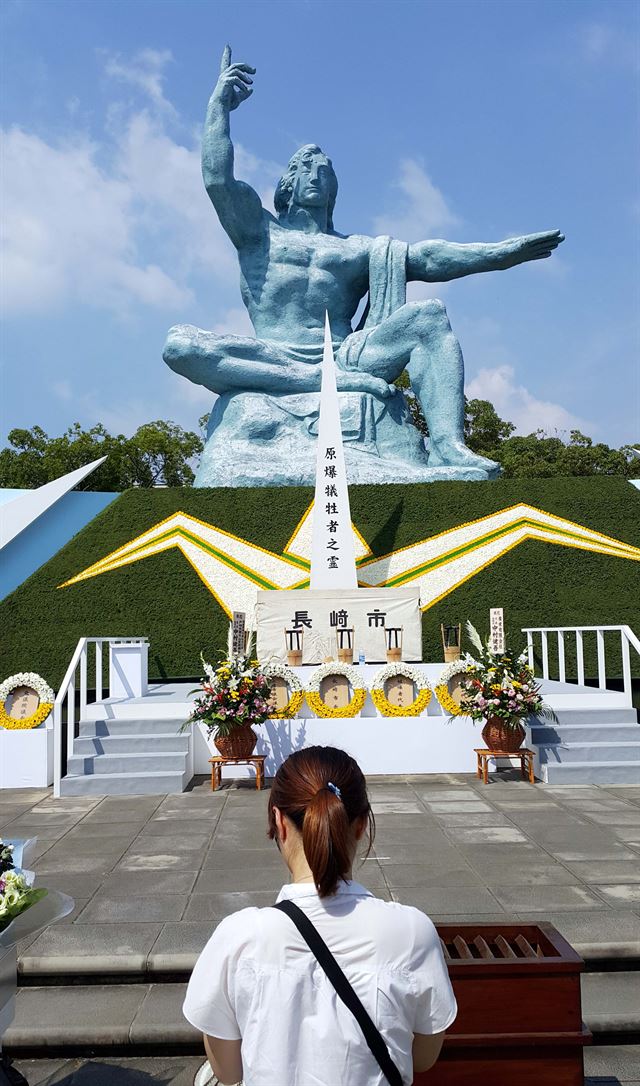
[[[258,735],[252,725],[263,723],[272,711],[272,684],[251,654],[252,637],[244,653],[234,654],[229,648],[217,667],[200,656],[204,678],[191,691],[199,696],[183,725],[204,724],[206,737],[213,737],[226,758],[248,758],[253,754]]]

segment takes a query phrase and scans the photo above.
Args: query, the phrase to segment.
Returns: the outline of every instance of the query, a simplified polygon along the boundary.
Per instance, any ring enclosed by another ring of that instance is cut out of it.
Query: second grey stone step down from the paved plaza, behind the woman
[[[640,1028],[638,973],[587,973],[581,977],[582,1018],[598,1041]],[[201,1043],[183,1018],[186,984],[97,984],[20,988],[3,1048],[32,1055],[62,1046]]]

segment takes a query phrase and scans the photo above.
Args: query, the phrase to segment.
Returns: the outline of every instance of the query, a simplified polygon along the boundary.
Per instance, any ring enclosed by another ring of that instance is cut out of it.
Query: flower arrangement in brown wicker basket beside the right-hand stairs
[[[555,719],[555,714],[540,696],[526,653],[518,656],[509,648],[493,653],[489,640],[482,644],[472,623],[466,626],[476,656],[466,657],[466,670],[460,677],[460,712],[486,721],[482,738],[489,750],[515,753],[523,744],[527,717],[539,714]]]

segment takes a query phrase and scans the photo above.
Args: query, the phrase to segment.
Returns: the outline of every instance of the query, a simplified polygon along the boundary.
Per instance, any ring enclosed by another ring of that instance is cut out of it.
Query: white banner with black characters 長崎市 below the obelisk
[[[422,660],[423,634],[419,596],[415,589],[292,589],[259,592],[258,655],[286,659],[285,631],[302,634],[302,662],[322,664],[325,656],[338,657],[339,631],[344,647],[351,637],[353,659],[361,653],[367,664],[387,659],[387,636],[402,643],[403,660]],[[399,632],[400,631],[400,632]],[[293,645],[292,647],[297,647]]]

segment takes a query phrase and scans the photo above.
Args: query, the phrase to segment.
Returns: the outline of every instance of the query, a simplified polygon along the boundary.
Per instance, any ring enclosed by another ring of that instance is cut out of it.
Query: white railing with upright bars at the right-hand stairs
[[[555,635],[557,640],[557,670],[561,682],[567,681],[565,666],[565,634],[575,634],[577,682],[580,686],[585,685],[583,634],[594,633],[598,657],[598,686],[600,690],[607,689],[604,635],[605,633],[619,633],[623,658],[623,692],[626,705],[631,706],[633,704],[630,649],[633,648],[640,656],[640,639],[637,637],[629,626],[529,626],[523,627],[523,633],[526,633],[527,635],[527,656],[531,668],[535,667],[534,634],[540,634],[540,654],[543,679],[549,679],[549,637],[550,635]]]

